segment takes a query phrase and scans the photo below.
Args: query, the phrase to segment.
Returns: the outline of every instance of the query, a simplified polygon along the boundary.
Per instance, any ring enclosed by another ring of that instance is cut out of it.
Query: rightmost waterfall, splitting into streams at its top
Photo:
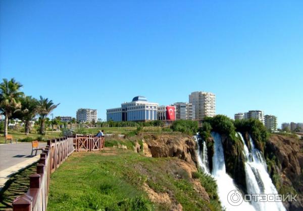
[[[238,132],[238,136],[241,138],[245,156],[245,179],[247,186],[247,193],[250,194],[278,194],[276,187],[274,186],[266,167],[266,162],[263,154],[255,148],[252,138],[249,136],[250,150],[248,150],[246,143],[244,142],[243,136]],[[257,199],[261,199],[260,197]],[[286,210],[282,202],[261,202],[255,201],[252,197],[251,204],[256,210]]]

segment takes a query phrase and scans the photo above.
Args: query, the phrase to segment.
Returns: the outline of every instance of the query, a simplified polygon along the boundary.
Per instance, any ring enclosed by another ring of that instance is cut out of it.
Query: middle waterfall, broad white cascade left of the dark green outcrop
[[[228,194],[232,190],[239,189],[234,184],[233,179],[226,173],[221,135],[217,132],[212,132],[212,136],[215,140],[212,176],[217,181],[218,195],[222,205],[226,210],[255,210],[255,208],[246,201],[243,201],[237,206],[233,206],[228,202]]]

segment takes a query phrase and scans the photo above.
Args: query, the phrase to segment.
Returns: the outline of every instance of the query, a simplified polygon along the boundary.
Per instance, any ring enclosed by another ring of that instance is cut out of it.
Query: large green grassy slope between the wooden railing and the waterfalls
[[[167,210],[151,202],[144,184],[168,193],[183,210],[217,210],[194,190],[177,158],[147,158],[139,153],[106,148],[73,153],[52,174],[48,210]]]

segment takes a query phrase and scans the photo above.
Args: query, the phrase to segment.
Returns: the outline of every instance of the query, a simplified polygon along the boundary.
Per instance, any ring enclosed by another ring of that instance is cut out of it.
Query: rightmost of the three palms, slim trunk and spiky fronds
[[[52,100],[48,100],[48,98],[43,98],[40,96],[39,102],[39,115],[40,115],[40,129],[39,133],[44,135],[45,134],[45,118],[46,116],[51,113],[57,106],[60,104],[55,105]]]

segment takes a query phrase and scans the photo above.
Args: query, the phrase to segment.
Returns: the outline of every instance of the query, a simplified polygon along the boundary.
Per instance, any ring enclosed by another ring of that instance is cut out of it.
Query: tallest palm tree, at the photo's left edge
[[[3,83],[0,84],[0,112],[5,115],[4,136],[8,135],[9,118],[21,108],[19,102],[19,98],[23,96],[23,92],[20,92],[21,87],[22,85],[14,78],[10,81],[3,79]]]

